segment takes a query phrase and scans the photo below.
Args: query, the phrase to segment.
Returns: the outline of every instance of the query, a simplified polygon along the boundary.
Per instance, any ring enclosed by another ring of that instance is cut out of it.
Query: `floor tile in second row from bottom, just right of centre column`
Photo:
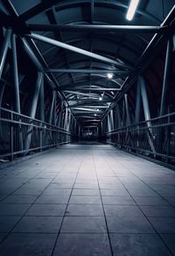
[[[108,217],[109,232],[114,233],[154,233],[145,217]]]

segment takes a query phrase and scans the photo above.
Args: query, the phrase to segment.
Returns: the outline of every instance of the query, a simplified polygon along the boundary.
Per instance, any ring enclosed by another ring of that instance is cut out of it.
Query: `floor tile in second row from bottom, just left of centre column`
[[[13,232],[57,233],[62,217],[23,217]]]

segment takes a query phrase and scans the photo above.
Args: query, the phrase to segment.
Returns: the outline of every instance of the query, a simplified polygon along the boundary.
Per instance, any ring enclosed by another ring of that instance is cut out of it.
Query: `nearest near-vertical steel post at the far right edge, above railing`
[[[166,47],[166,58],[165,58],[165,72],[164,72],[164,82],[162,89],[162,98],[161,98],[161,106],[160,106],[160,116],[163,116],[167,112],[167,96],[168,89],[170,85],[170,77],[172,71],[172,49],[173,42],[172,39],[169,39]]]

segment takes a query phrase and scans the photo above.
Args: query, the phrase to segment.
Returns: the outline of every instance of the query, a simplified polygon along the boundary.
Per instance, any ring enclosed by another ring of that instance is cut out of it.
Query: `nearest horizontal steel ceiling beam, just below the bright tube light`
[[[167,26],[155,25],[38,25],[29,24],[31,31],[42,32],[130,32],[163,33]]]

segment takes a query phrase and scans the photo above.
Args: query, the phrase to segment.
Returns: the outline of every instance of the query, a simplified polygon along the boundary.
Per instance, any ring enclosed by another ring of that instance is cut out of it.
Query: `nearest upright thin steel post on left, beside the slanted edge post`
[[[16,46],[16,35],[11,36],[11,47],[12,47],[12,60],[13,60],[13,77],[15,86],[15,106],[16,111],[21,113],[20,106],[20,95],[19,95],[19,82],[18,82],[18,59],[17,59],[17,46]]]

